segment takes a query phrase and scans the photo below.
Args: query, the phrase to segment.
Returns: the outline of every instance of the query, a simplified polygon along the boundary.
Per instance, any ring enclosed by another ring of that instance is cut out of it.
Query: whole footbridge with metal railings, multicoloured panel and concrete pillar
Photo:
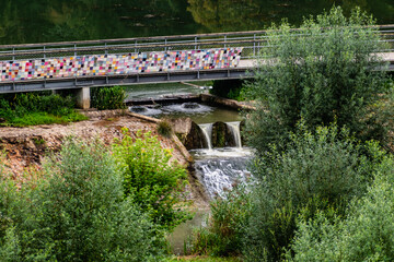
[[[394,25],[379,32],[394,70]],[[3,45],[0,94],[76,88],[86,108],[95,86],[244,78],[265,48],[266,31]]]

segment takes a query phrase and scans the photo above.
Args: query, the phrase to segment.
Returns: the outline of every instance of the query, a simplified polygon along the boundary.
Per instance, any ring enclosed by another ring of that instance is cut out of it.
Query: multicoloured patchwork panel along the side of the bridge
[[[242,48],[0,61],[1,81],[116,75],[237,66]]]

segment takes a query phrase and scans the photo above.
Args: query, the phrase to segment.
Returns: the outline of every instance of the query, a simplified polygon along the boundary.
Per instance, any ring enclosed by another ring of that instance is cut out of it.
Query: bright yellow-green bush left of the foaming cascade
[[[186,169],[171,163],[172,152],[163,150],[157,136],[139,131],[134,140],[128,130],[114,144],[114,155],[121,167],[125,196],[131,196],[153,222],[172,229],[188,216],[181,209],[187,183]]]

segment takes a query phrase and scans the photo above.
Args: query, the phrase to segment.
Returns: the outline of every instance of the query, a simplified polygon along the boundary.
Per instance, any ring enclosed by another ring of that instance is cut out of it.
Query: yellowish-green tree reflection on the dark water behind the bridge
[[[355,7],[372,13],[379,23],[392,23],[392,0],[188,0],[194,20],[212,32],[262,29],[288,19],[299,25],[303,16],[316,15],[341,5],[345,13]]]

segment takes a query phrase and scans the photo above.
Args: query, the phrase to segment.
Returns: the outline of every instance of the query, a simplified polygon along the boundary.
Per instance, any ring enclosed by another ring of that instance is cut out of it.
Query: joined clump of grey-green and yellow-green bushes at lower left
[[[1,261],[161,260],[164,234],[185,217],[171,198],[185,170],[167,165],[171,153],[154,138],[138,140],[125,134],[112,155],[96,141],[68,139],[21,184],[1,162]]]

